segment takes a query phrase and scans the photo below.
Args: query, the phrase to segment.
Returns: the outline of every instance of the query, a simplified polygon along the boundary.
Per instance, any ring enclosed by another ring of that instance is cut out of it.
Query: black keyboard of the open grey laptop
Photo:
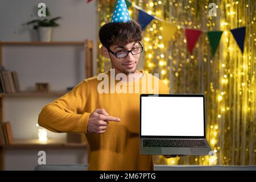
[[[143,147],[207,147],[204,140],[143,139]]]

